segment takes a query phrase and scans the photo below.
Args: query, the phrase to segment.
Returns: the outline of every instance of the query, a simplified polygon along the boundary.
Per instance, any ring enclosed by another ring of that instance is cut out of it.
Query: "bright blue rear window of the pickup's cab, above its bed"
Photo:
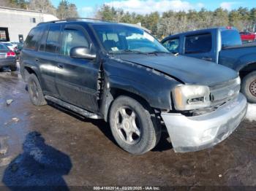
[[[222,47],[241,45],[241,37],[236,30],[222,31]]]

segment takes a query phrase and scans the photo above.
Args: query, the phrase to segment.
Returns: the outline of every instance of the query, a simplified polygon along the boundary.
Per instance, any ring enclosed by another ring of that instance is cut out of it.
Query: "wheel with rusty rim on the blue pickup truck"
[[[242,79],[241,92],[246,96],[247,101],[256,104],[256,71],[252,71]]]

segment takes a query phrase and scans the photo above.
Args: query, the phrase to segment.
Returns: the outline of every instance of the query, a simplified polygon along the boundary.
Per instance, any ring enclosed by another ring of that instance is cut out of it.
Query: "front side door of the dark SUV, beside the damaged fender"
[[[99,62],[71,58],[72,47],[91,47],[86,29],[78,25],[66,25],[62,31],[61,50],[56,61],[56,85],[61,100],[69,104],[97,112],[97,79]]]

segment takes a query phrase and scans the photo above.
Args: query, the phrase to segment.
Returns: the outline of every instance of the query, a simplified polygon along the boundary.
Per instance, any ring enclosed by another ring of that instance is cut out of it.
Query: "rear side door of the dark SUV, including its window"
[[[42,89],[45,94],[59,97],[56,88],[55,74],[57,68],[56,53],[60,49],[60,24],[48,26],[39,44],[36,61],[42,77]]]

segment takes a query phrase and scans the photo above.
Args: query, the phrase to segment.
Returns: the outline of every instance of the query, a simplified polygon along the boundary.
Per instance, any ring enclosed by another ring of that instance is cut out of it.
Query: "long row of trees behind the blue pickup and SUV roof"
[[[140,15],[103,5],[97,10],[95,17],[121,23],[141,23],[141,26],[151,30],[152,34],[158,38],[214,26],[235,26],[239,31],[255,31],[256,29],[256,8],[248,9],[245,7],[231,11],[222,8],[209,11],[202,8],[200,11],[173,12],[170,10],[162,14],[151,12],[147,15]]]

